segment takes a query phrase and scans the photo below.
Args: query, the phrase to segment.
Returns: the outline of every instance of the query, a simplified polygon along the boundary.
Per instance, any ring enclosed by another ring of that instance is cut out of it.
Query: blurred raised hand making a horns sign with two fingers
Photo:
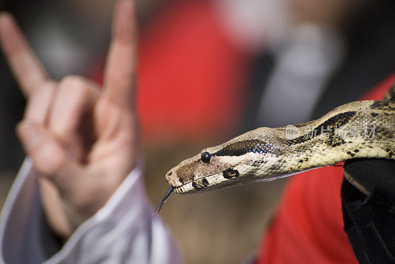
[[[48,78],[12,16],[0,16],[1,48],[27,99],[16,131],[39,172],[48,224],[63,238],[102,207],[136,165],[135,32],[134,4],[119,0],[101,89],[81,76]]]

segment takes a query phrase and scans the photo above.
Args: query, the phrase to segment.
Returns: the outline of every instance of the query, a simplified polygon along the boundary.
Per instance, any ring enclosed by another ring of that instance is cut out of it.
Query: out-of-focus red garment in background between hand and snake
[[[139,42],[137,109],[147,138],[229,134],[245,107],[249,56],[225,35],[210,1],[166,4]],[[93,73],[101,82],[103,64]]]

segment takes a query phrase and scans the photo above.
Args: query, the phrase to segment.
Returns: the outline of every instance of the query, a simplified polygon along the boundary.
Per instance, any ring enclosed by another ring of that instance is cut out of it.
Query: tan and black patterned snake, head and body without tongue
[[[176,193],[187,194],[270,181],[349,159],[395,160],[394,124],[395,101],[355,101],[314,121],[258,128],[206,148],[172,168],[166,180]]]

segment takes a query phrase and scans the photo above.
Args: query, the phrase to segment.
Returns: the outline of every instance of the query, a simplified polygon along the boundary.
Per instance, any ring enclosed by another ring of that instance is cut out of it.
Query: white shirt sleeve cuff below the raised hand
[[[180,253],[146,197],[135,168],[107,203],[83,222],[65,245],[46,259],[36,171],[26,159],[0,216],[0,262],[6,264],[179,264]]]

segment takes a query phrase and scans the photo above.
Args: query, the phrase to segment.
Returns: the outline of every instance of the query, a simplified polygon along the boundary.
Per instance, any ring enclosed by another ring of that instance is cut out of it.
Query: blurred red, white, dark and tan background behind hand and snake
[[[98,83],[115,0],[0,0],[53,79]],[[267,126],[320,117],[395,67],[391,0],[138,0],[137,108],[157,204],[169,168]],[[0,57],[0,198],[24,159],[25,101]],[[286,180],[172,196],[160,212],[187,263],[253,256]],[[132,201],[131,201],[132,202]]]

